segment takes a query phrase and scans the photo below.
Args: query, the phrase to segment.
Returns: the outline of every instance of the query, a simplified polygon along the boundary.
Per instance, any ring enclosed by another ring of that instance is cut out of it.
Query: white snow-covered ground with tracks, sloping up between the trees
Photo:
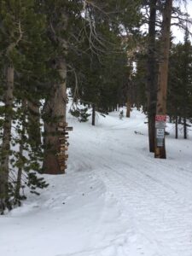
[[[144,114],[118,114],[69,116],[67,174],[0,217],[1,256],[192,255],[191,139],[168,124],[167,160],[154,159]]]

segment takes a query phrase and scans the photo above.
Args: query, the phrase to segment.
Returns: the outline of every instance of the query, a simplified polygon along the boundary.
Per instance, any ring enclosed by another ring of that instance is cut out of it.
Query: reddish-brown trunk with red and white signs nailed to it
[[[168,62],[170,49],[170,27],[172,18],[172,0],[166,0],[163,9],[162,34],[160,42],[160,66],[158,73],[158,91],[157,91],[157,111],[158,115],[166,115],[166,89],[168,78]],[[164,132],[165,133],[165,132]],[[163,147],[155,145],[154,157],[166,159],[166,143],[165,136],[163,139]]]

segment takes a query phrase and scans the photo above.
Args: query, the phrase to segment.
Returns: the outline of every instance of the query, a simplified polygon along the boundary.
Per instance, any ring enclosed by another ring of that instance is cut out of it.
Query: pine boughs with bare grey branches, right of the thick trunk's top
[[[86,5],[84,23],[87,24],[86,34],[90,37],[83,36],[83,44],[79,45],[80,59],[75,52],[75,61],[72,64],[79,78],[79,90],[76,90],[73,73],[69,75],[68,84],[72,86],[74,98],[78,92],[82,102],[94,105],[99,112],[108,113],[122,101],[119,99],[122,95],[121,90],[124,90],[130,75],[127,51],[131,47],[131,40],[125,41],[125,36],[120,34],[123,30],[127,33],[133,32],[133,26],[134,33],[137,33],[138,3],[139,1],[119,1],[118,4],[114,4],[113,1],[108,1],[103,4],[100,1],[91,1],[90,5]]]

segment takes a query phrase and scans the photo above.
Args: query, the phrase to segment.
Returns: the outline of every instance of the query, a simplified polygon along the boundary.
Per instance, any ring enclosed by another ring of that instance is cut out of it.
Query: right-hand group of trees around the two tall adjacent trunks
[[[166,158],[163,147],[155,140],[155,115],[169,115],[176,122],[182,120],[184,138],[187,120],[191,119],[191,44],[189,41],[189,15],[174,7],[174,1],[145,1],[148,9],[148,34],[136,55],[137,70],[133,76],[133,100],[148,113],[149,151],[155,157]],[[184,44],[173,44],[171,20],[185,30]],[[171,44],[170,44],[171,43]],[[171,58],[169,60],[169,55]],[[168,64],[169,67],[168,68]],[[168,95],[167,95],[168,88]]]

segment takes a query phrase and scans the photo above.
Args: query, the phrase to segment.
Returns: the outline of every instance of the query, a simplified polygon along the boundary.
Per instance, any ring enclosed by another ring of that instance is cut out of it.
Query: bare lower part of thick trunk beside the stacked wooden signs
[[[57,132],[58,123],[66,122],[67,107],[67,65],[64,59],[59,61],[61,84],[54,84],[50,91],[49,99],[44,108],[44,173],[61,174],[56,154],[59,152],[60,134]]]

